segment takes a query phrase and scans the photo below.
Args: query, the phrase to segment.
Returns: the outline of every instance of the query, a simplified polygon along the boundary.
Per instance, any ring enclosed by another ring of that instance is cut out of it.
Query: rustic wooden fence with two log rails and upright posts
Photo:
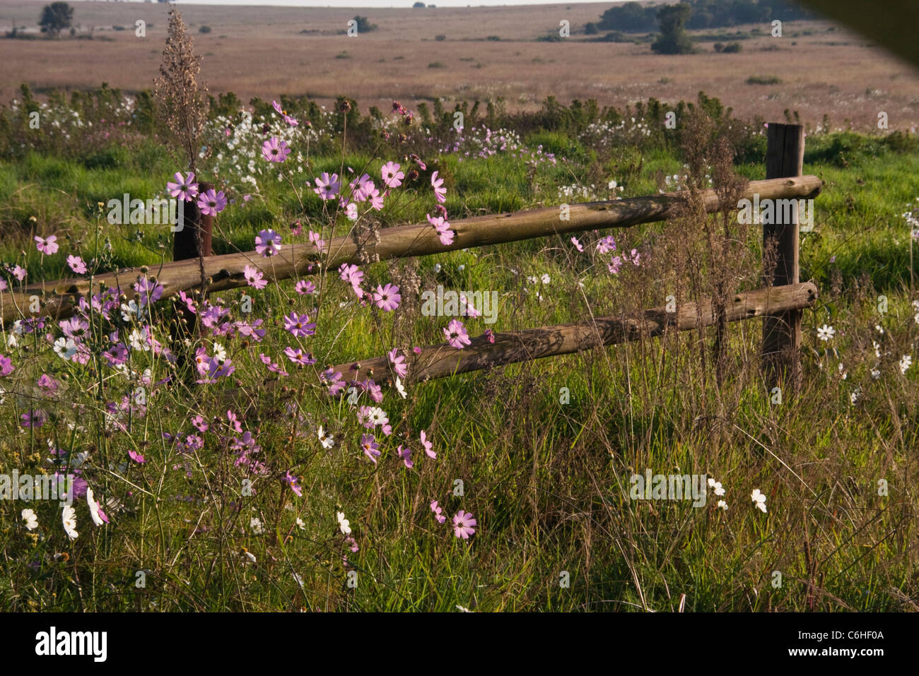
[[[800,125],[770,124],[767,130],[766,180],[751,181],[741,196],[753,199],[754,194],[763,200],[803,199],[815,197],[822,182],[816,176],[801,175],[804,131]],[[704,206],[708,213],[736,205],[722,205],[714,190],[705,191]],[[336,237],[323,254],[316,252],[312,243],[292,244],[282,247],[279,254],[263,258],[255,252],[242,254],[207,255],[203,259],[205,288],[220,291],[244,287],[244,267],[251,265],[261,270],[268,280],[316,274],[322,268],[335,270],[343,263],[358,264],[361,254],[369,260],[387,260],[419,255],[442,254],[470,247],[503,242],[517,242],[536,237],[562,235],[604,228],[628,228],[640,223],[667,220],[676,215],[683,201],[679,194],[654,197],[590,202],[571,205],[568,220],[560,219],[559,208],[540,208],[515,213],[495,214],[451,222],[454,240],[445,246],[437,232],[428,223],[418,223],[378,231],[375,238],[356,242],[352,237]],[[789,379],[794,387],[800,378],[800,313],[811,307],[817,299],[817,288],[811,283],[800,284],[798,264],[799,226],[777,219],[764,225],[764,249],[771,240],[776,242],[777,265],[775,271],[764,278],[765,287],[734,296],[727,309],[728,321],[752,317],[765,317],[763,340],[763,367],[770,384],[779,379]],[[201,238],[198,239],[198,224]],[[201,287],[202,263],[197,246],[204,254],[210,253],[210,221],[200,219],[197,212],[187,221],[181,241],[176,240],[175,260],[150,271],[164,286],[163,298],[179,291]],[[206,230],[206,232],[205,232]],[[193,256],[193,257],[192,257]],[[142,274],[140,268],[126,268],[116,272],[85,278],[63,279],[56,282],[32,284],[24,292],[0,293],[0,313],[4,325],[11,321],[36,315],[62,319],[74,313],[77,298],[100,287],[118,287],[130,293],[130,285]],[[35,300],[39,299],[37,311]],[[644,310],[630,318],[603,317],[558,326],[527,329],[519,332],[494,334],[494,343],[484,337],[472,339],[471,345],[456,350],[447,344],[427,346],[415,361],[410,380],[421,381],[465,373],[478,369],[502,366],[528,359],[551,355],[565,355],[599,345],[617,344],[641,336],[662,334],[668,327],[686,331],[716,321],[711,301],[687,303],[675,312],[656,308]],[[362,379],[374,373],[384,382],[389,378],[389,365],[385,357],[351,362],[335,367],[346,379]]]

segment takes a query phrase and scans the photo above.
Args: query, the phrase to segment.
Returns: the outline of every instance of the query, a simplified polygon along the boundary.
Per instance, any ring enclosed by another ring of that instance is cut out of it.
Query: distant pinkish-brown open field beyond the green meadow
[[[0,30],[14,23],[37,31],[43,3],[0,2]],[[166,6],[74,3],[74,23],[93,28],[94,39],[0,39],[0,100],[16,96],[21,82],[37,92],[86,88],[108,82],[131,92],[151,84],[165,39]],[[509,109],[529,110],[546,96],[562,102],[594,98],[623,107],[653,96],[692,100],[699,90],[718,96],[741,118],[781,119],[798,111],[834,129],[875,128],[887,112],[891,130],[919,126],[919,77],[908,65],[828,22],[786,23],[782,38],[769,26],[737,27],[760,37],[741,40],[743,51],[658,56],[647,44],[589,42],[584,23],[603,4],[436,9],[332,9],[181,6],[203,54],[211,92],[251,96],[308,95],[320,102],[346,95],[361,107],[399,99],[412,107],[440,97],[454,100],[504,96]],[[379,28],[348,38],[355,14]],[[146,38],[134,22],[147,22]],[[572,37],[537,41],[571,22]],[[210,33],[198,33],[202,25]],[[124,27],[115,30],[113,27]],[[808,34],[805,35],[805,32]],[[436,37],[445,36],[443,39]],[[489,39],[492,37],[492,39]],[[500,38],[500,40],[495,39]],[[747,84],[750,77],[780,80]]]

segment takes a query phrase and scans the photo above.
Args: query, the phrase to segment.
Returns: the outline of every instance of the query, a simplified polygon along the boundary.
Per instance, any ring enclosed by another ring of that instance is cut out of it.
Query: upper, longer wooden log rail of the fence
[[[765,181],[751,181],[742,197],[752,199],[754,194],[764,199],[801,199],[816,196],[820,192],[821,180],[817,176],[797,176]],[[722,208],[714,190],[704,194],[705,208],[709,213]],[[539,208],[515,213],[494,214],[472,219],[456,220],[451,223],[456,233],[453,243],[445,246],[428,223],[416,223],[386,228],[379,231],[379,241],[372,239],[362,245],[371,259],[387,260],[428,254],[442,254],[447,251],[486,246],[503,242],[517,242],[553,234],[568,234],[604,228],[628,228],[640,223],[667,220],[675,216],[682,197],[677,193],[654,197],[630,197],[585,204],[573,204],[569,219],[560,219],[560,208]],[[735,208],[736,205],[724,205]],[[358,246],[351,237],[335,237],[328,244],[326,265],[335,269],[343,263],[357,264]],[[225,254],[204,258],[204,271],[208,277],[208,290],[244,287],[243,270],[252,265],[268,280],[280,280],[292,276],[309,274],[308,267],[325,258],[318,254],[312,243],[284,245],[281,252],[270,258],[263,258],[255,252]],[[313,268],[315,271],[315,268]],[[98,275],[94,278],[96,287],[118,287],[131,295],[130,285],[141,275],[138,267]],[[164,286],[163,298],[200,287],[198,259],[174,261],[162,266],[153,266],[150,274],[156,276]],[[63,279],[29,285],[26,291],[0,293],[0,317],[3,325],[23,317],[49,316],[63,319],[74,313],[77,296],[89,293],[89,280],[85,277]],[[32,297],[42,299],[38,312],[31,312]]]

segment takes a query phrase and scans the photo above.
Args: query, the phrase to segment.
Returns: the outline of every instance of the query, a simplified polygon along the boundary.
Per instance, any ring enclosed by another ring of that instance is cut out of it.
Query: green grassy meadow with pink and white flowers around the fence
[[[686,611],[917,609],[912,134],[807,137],[804,173],[824,185],[801,235],[801,279],[820,302],[804,312],[800,392],[765,387],[754,320],[729,325],[723,352],[713,329],[668,333],[403,378],[402,396],[388,383],[396,366],[340,391],[323,370],[394,350],[411,375],[413,348],[443,343],[453,319],[425,315],[425,291],[494,292],[494,324],[458,318],[473,337],[630,315],[670,296],[760,287],[761,227],[733,210],[687,209],[576,242],[368,260],[350,283],[321,268],[144,302],[172,235],[111,224],[106,205],[163,197],[186,171],[149,99],[110,88],[48,104],[28,88],[16,96],[25,103],[0,116],[4,287],[147,267],[138,287],[126,280],[121,296],[97,296],[73,320],[0,331],[0,491],[14,470],[79,479],[73,514],[57,501],[0,501],[5,609],[670,612],[684,595]],[[241,114],[224,96],[196,166],[229,199],[214,250],[252,252],[269,229],[287,247],[311,232],[328,242],[425,222],[441,205],[437,178],[455,223],[765,177],[761,119],[732,115],[731,98],[669,100],[529,112],[469,101],[459,132],[452,103],[410,106],[405,124],[389,106],[339,112],[285,96],[294,128],[266,101]],[[671,108],[675,130],[663,123]],[[289,144],[284,162],[261,154],[269,139]],[[382,194],[387,163],[402,185]],[[364,173],[379,210],[348,185]],[[323,174],[346,179],[356,220],[313,191]],[[51,236],[60,248],[42,252]],[[394,310],[354,290],[388,284],[400,288]],[[315,363],[299,366],[298,350]],[[633,477],[648,470],[704,475],[723,494],[713,486],[697,507],[633,499]]]

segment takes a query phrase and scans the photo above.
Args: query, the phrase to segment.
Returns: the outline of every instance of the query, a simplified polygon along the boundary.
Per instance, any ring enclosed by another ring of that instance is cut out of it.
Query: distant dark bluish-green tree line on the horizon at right
[[[683,0],[689,6],[686,28],[728,28],[780,19],[795,21],[816,18],[811,12],[786,0]],[[596,28],[645,33],[657,30],[660,5],[636,2],[610,7],[600,16]]]

